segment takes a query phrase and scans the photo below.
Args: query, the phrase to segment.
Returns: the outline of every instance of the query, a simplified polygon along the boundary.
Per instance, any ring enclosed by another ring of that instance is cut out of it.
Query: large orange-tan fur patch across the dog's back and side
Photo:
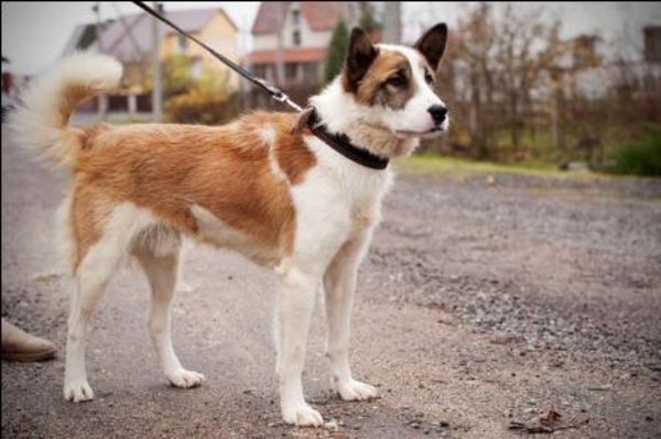
[[[100,238],[109,210],[101,206],[123,201],[193,235],[198,228],[191,207],[199,205],[229,227],[291,254],[295,212],[289,185],[302,183],[315,164],[302,135],[290,132],[295,117],[254,113],[219,128],[138,124],[86,131],[72,216],[77,263]],[[264,125],[273,128],[274,145],[260,135]],[[270,147],[288,180],[273,175]]]

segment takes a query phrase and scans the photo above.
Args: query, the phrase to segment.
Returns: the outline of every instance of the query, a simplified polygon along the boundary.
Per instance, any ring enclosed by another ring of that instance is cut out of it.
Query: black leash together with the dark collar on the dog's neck
[[[180,34],[199,44],[204,50],[214,55],[216,59],[218,59],[219,62],[238,73],[245,79],[248,79],[250,83],[267,91],[277,101],[286,103],[288,106],[292,107],[299,112],[303,111],[303,109],[296,102],[291,100],[290,97],[284,94],[284,91],[267,83],[264,79],[257,78],[250,75],[250,73],[243,67],[239,66],[231,59],[214,51],[212,47],[207,46],[205,43],[197,40],[195,36],[184,32],[183,29],[181,29],[180,26],[167,20],[165,17],[161,15],[159,12],[144,4],[143,1],[133,1],[133,3],[136,3],[150,15],[156,18],[158,20],[161,20],[163,23],[167,24],[169,26],[177,31]],[[388,158],[379,157],[365,149],[354,145],[346,134],[337,134],[329,132],[326,125],[318,120],[316,111],[312,113],[312,117],[307,121],[307,128],[322,142],[324,142],[333,150],[337,151],[339,154],[344,155],[345,157],[349,158],[355,163],[358,163],[362,166],[367,166],[372,169],[384,169],[386,167],[388,167]]]

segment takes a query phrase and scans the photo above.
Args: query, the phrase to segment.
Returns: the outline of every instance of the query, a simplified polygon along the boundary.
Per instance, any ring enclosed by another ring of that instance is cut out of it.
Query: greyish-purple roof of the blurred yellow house
[[[219,8],[195,9],[187,11],[166,11],[164,15],[188,33],[199,32],[215,13],[225,15],[231,26],[237,30],[236,24]],[[110,24],[99,39],[101,50],[109,55],[115,56],[120,62],[137,61],[140,54],[145,54],[151,51],[153,21],[151,15],[145,12],[132,15],[124,15],[122,20],[117,20]],[[131,30],[131,35],[126,31],[126,26]],[[173,29],[161,23],[159,26],[161,39],[165,35],[175,33]]]

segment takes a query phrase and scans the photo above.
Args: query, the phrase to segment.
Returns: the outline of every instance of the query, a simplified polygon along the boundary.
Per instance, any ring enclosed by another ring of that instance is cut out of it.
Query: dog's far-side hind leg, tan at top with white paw
[[[136,257],[151,288],[148,326],[165,377],[176,387],[196,387],[204,381],[204,375],[182,366],[174,353],[170,330],[172,300],[177,277],[178,246],[176,251],[165,255],[156,255],[151,250],[142,249],[136,252]]]

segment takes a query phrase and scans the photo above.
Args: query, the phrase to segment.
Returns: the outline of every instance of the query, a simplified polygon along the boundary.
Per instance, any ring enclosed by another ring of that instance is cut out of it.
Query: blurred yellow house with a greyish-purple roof
[[[185,32],[237,61],[238,29],[223,9],[165,11],[164,15]],[[66,51],[88,48],[113,56],[124,66],[123,86],[140,92],[152,63],[153,24],[154,18],[145,12],[123,15],[100,24],[100,37],[96,37],[95,25],[80,25],[69,39]],[[172,28],[160,23],[159,35],[161,59],[172,54],[184,54],[193,59],[191,73],[194,77],[199,76],[203,69],[213,69],[228,75],[234,88],[238,86],[237,76],[229,75],[227,66]],[[90,39],[94,41],[90,42]]]

